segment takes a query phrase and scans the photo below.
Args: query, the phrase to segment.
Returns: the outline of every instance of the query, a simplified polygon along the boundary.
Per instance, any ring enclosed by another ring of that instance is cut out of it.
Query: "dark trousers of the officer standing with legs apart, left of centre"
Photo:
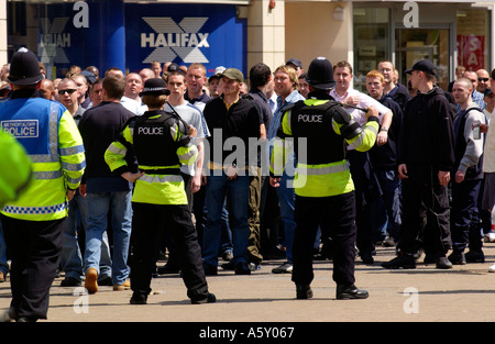
[[[151,292],[151,279],[155,268],[160,237],[168,231],[177,251],[177,258],[190,299],[208,296],[202,268],[201,249],[187,204],[162,206],[132,203],[131,289],[143,296]]]

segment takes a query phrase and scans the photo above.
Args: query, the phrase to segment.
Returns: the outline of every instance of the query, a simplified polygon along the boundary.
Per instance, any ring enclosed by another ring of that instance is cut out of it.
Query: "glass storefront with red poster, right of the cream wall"
[[[362,7],[361,7],[362,5]],[[419,59],[437,65],[437,84],[447,89],[459,65],[493,68],[491,11],[459,3],[419,3],[419,24],[405,27],[402,3],[355,3],[353,8],[354,88],[366,91],[364,76],[381,60],[392,60],[399,82]]]

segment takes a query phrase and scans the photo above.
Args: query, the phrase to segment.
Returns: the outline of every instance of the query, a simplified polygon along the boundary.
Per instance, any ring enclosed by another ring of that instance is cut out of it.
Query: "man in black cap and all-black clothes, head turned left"
[[[454,164],[453,110],[436,85],[437,67],[427,59],[406,70],[418,95],[406,106],[398,142],[398,177],[403,190],[403,221],[398,255],[385,268],[416,268],[422,232],[425,260],[448,269],[451,248],[448,184]],[[426,225],[424,219],[426,218]]]

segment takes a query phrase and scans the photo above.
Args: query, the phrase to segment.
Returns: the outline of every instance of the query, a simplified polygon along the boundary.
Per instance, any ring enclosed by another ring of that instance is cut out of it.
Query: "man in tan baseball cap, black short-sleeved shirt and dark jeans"
[[[226,195],[230,197],[232,218],[233,258],[231,265],[237,275],[250,275],[248,264],[249,166],[257,163],[258,138],[266,137],[263,118],[257,106],[240,97],[244,82],[241,70],[227,68],[220,86],[222,95],[205,107],[205,120],[211,136],[208,137],[209,153],[205,166],[209,166],[206,185],[208,222],[204,230],[202,258],[207,275],[217,275],[221,233],[221,213]],[[250,140],[253,138],[253,140]],[[245,149],[239,147],[242,141]],[[250,146],[251,143],[251,146]],[[231,148],[228,148],[228,147]],[[235,146],[235,149],[233,148]],[[209,165],[207,160],[209,159]],[[251,163],[251,164],[250,164]]]

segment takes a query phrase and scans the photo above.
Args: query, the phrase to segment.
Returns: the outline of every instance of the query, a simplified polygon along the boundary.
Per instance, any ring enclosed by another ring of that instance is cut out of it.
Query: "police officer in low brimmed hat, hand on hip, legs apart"
[[[197,132],[177,114],[164,111],[167,95],[169,90],[163,79],[146,80],[142,96],[148,111],[130,119],[118,141],[105,154],[114,174],[135,182],[130,257],[131,304],[147,302],[164,230],[169,231],[176,245],[191,303],[216,301],[215,295],[208,292],[200,246],[180,176],[180,164],[193,166],[196,162],[198,149],[190,135],[196,136]],[[139,170],[133,170],[132,164],[128,163],[133,155]]]

